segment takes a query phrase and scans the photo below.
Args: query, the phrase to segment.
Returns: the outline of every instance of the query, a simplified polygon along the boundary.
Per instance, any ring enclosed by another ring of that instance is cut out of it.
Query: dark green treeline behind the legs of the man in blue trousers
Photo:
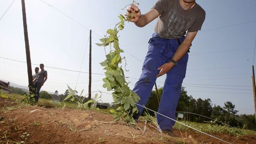
[[[158,90],[159,97],[157,98],[156,91],[152,91],[146,105],[147,108],[158,110],[158,100],[161,99],[163,89]],[[254,115],[237,115],[238,110],[235,109],[235,105],[232,102],[227,101],[223,107],[212,105],[211,99],[194,99],[191,95],[188,96],[185,87],[182,87],[179,104],[176,111],[188,112],[185,114],[186,121],[192,122],[205,122],[212,121],[209,118],[215,119],[221,123],[228,124],[230,126],[241,127],[244,129],[256,130],[255,116]],[[154,115],[152,111],[148,111],[150,115]],[[206,117],[194,115],[203,115]],[[218,123],[218,122],[215,122]],[[221,124],[218,123],[218,124]]]

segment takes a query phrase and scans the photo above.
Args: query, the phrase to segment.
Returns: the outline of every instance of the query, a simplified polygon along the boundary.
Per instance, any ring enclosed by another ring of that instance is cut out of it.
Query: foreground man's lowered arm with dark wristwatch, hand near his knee
[[[196,37],[197,31],[195,32],[188,32],[186,35],[186,38],[184,41],[180,44],[177,51],[174,53],[172,59],[174,61],[179,61],[189,50],[189,47],[193,41],[193,39]],[[165,63],[163,66],[159,67],[158,70],[161,70],[160,73],[157,75],[157,77],[162,76],[174,66],[173,62]]]

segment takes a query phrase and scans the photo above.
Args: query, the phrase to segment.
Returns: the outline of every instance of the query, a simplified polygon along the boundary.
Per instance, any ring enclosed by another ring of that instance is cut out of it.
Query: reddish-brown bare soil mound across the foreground
[[[56,105],[40,99],[38,106],[20,102],[20,95],[0,98],[0,143],[225,143],[176,124],[178,138],[159,133],[152,123],[143,121],[132,127],[115,123],[109,110],[79,110],[74,103]],[[15,98],[15,99],[14,99]],[[230,143],[256,143],[249,130],[185,122]]]

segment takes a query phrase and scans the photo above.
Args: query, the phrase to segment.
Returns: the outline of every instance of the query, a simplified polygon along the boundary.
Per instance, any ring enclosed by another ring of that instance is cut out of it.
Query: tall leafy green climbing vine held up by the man
[[[136,2],[133,2],[133,4],[138,5]],[[130,90],[129,83],[125,81],[124,70],[121,66],[122,60],[125,57],[121,57],[121,53],[124,51],[119,47],[118,32],[124,29],[124,22],[129,21],[134,16],[135,13],[131,13],[125,18],[120,14],[118,17],[121,21],[116,24],[114,29],[108,29],[105,37],[100,39],[101,43],[97,44],[105,48],[106,46],[110,47],[109,53],[106,53],[106,60],[100,63],[104,70],[106,70],[106,77],[103,78],[103,87],[108,91],[113,91],[113,104],[118,107],[117,109],[111,109],[110,112],[114,114],[115,121],[122,119],[127,123],[135,122],[133,115],[138,113],[135,103],[140,100],[140,97],[137,93]],[[112,50],[112,46],[114,50]]]

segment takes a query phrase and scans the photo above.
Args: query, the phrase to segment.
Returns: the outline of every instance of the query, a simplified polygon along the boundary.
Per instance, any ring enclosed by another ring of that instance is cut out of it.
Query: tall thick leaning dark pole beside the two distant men
[[[28,87],[29,87],[29,93],[30,93],[32,92],[33,78],[32,78],[29,41],[28,41],[28,27],[27,27],[25,0],[21,0],[21,4],[22,4],[23,28],[24,28],[24,38],[25,38],[26,56],[27,56]]]

